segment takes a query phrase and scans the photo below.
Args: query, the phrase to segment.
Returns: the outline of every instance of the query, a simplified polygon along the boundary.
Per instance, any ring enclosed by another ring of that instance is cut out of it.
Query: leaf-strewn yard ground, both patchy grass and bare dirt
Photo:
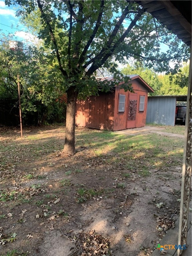
[[[150,255],[174,227],[182,138],[171,151],[157,137],[157,150],[149,131],[133,140],[77,128],[76,155],[61,157],[64,127],[31,127],[23,139],[0,129],[0,255]],[[100,135],[111,137],[105,144]],[[125,140],[133,140],[128,149]]]

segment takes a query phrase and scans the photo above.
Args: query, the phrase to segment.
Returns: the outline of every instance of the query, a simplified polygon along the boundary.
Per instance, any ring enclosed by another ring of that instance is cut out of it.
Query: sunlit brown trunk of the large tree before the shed
[[[67,115],[64,154],[75,154],[75,106],[78,93],[73,87],[67,90]]]

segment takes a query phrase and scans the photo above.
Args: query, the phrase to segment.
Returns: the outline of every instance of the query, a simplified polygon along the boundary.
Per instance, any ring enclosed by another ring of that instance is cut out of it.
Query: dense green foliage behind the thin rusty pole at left
[[[13,38],[1,34],[0,45],[0,99],[10,102],[11,109],[18,107],[19,75],[21,85],[21,108],[24,124],[42,124],[64,117],[66,103],[61,102],[63,94],[54,65],[45,49],[40,47],[24,47],[23,51],[9,49],[9,40]],[[57,83],[55,82],[57,80]]]

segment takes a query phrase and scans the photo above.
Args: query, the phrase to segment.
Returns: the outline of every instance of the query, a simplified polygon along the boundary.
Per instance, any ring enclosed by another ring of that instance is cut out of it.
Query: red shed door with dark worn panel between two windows
[[[137,93],[129,93],[127,128],[136,127],[136,115],[137,115]]]

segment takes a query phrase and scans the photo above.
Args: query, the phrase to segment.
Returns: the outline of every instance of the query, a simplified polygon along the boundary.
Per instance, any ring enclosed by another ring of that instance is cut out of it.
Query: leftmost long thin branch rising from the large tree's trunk
[[[60,58],[60,55],[59,55],[59,50],[58,50],[58,47],[57,47],[57,42],[56,42],[55,36],[53,34],[53,30],[52,30],[51,24],[48,21],[45,13],[43,11],[43,6],[41,5],[40,0],[37,0],[37,4],[38,4],[39,10],[41,12],[41,15],[44,18],[44,20],[45,20],[45,22],[46,22],[46,24],[47,24],[47,26],[49,28],[49,33],[51,35],[51,40],[53,41],[53,44],[54,44],[55,50],[56,50],[56,54],[57,54],[57,60],[58,60],[58,64],[59,64],[59,69],[60,69],[61,73],[63,74],[63,76],[68,77],[67,72],[62,68],[61,58]]]

